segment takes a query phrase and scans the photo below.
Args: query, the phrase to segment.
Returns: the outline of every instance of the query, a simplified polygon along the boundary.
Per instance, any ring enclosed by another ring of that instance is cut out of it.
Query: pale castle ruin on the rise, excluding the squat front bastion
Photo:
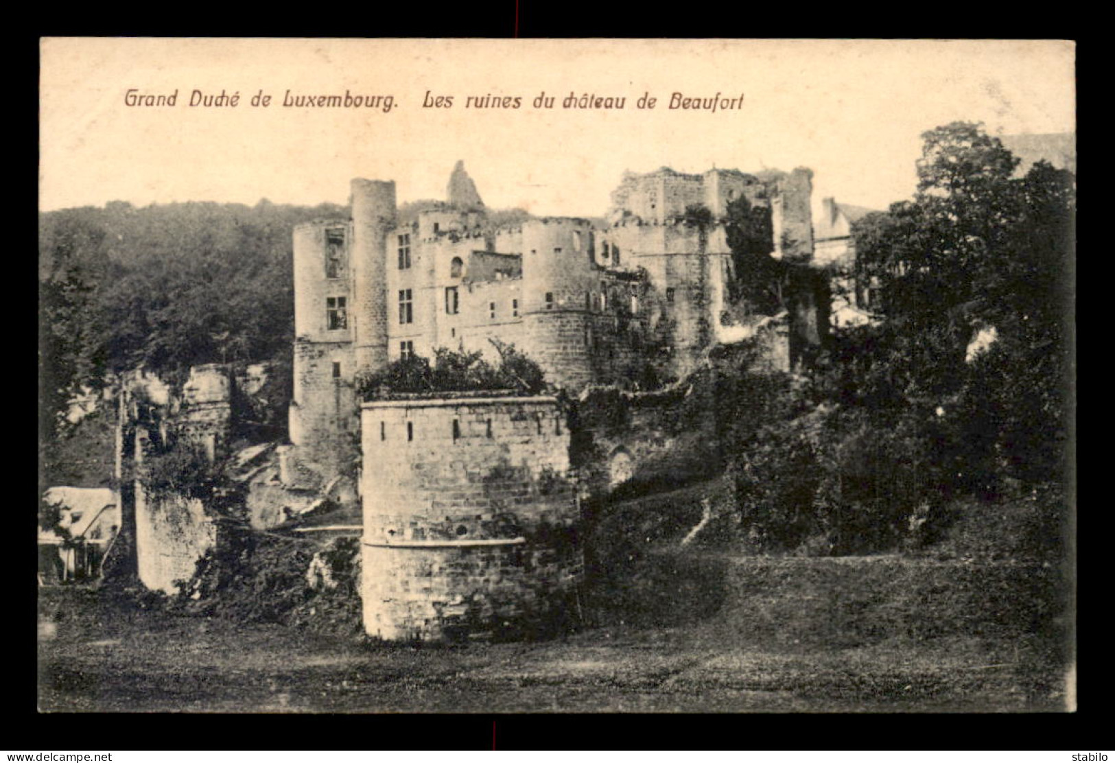
[[[284,482],[322,482],[357,457],[357,371],[437,348],[512,344],[571,393],[685,376],[730,328],[724,218],[770,210],[774,255],[813,251],[812,172],[627,174],[607,222],[496,228],[462,163],[447,201],[398,216],[395,183],[357,178],[351,220],[294,229],[294,387]],[[709,221],[689,212],[704,206]],[[738,332],[738,331],[737,331]],[[788,363],[786,354],[785,363]]]

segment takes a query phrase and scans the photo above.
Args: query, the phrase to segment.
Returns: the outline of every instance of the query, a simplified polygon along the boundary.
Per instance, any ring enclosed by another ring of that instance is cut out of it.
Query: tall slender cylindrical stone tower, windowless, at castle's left
[[[357,369],[387,365],[387,236],[396,228],[395,182],[352,181],[352,317]]]

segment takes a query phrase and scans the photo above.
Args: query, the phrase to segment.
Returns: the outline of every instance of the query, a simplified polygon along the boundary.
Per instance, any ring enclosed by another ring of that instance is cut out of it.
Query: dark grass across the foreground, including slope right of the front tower
[[[699,515],[701,490],[632,501],[598,522],[590,541],[604,551],[590,559],[586,626],[545,641],[377,645],[327,628],[175,616],[107,591],[42,589],[39,706],[222,713],[1065,708],[1070,622],[1065,572],[1048,558],[1004,553],[1002,543],[973,550],[966,533],[983,535],[970,528],[920,556],[774,559],[681,549],[679,533]],[[996,511],[1001,528],[1025,524],[1011,512],[1028,515],[1021,504]],[[605,543],[601,533],[619,534]]]

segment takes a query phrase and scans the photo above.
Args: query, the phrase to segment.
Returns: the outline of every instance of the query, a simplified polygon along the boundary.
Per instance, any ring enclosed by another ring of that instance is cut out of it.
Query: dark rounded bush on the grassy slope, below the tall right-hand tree
[[[822,404],[796,414],[792,399],[783,414],[754,429],[733,461],[740,527],[754,550],[894,551],[933,540],[949,521],[952,445],[932,412]]]

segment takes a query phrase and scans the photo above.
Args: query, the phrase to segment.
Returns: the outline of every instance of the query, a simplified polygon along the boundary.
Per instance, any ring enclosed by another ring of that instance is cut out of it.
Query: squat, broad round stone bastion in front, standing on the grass
[[[552,397],[365,404],[365,628],[546,631],[583,573],[570,433]]]

